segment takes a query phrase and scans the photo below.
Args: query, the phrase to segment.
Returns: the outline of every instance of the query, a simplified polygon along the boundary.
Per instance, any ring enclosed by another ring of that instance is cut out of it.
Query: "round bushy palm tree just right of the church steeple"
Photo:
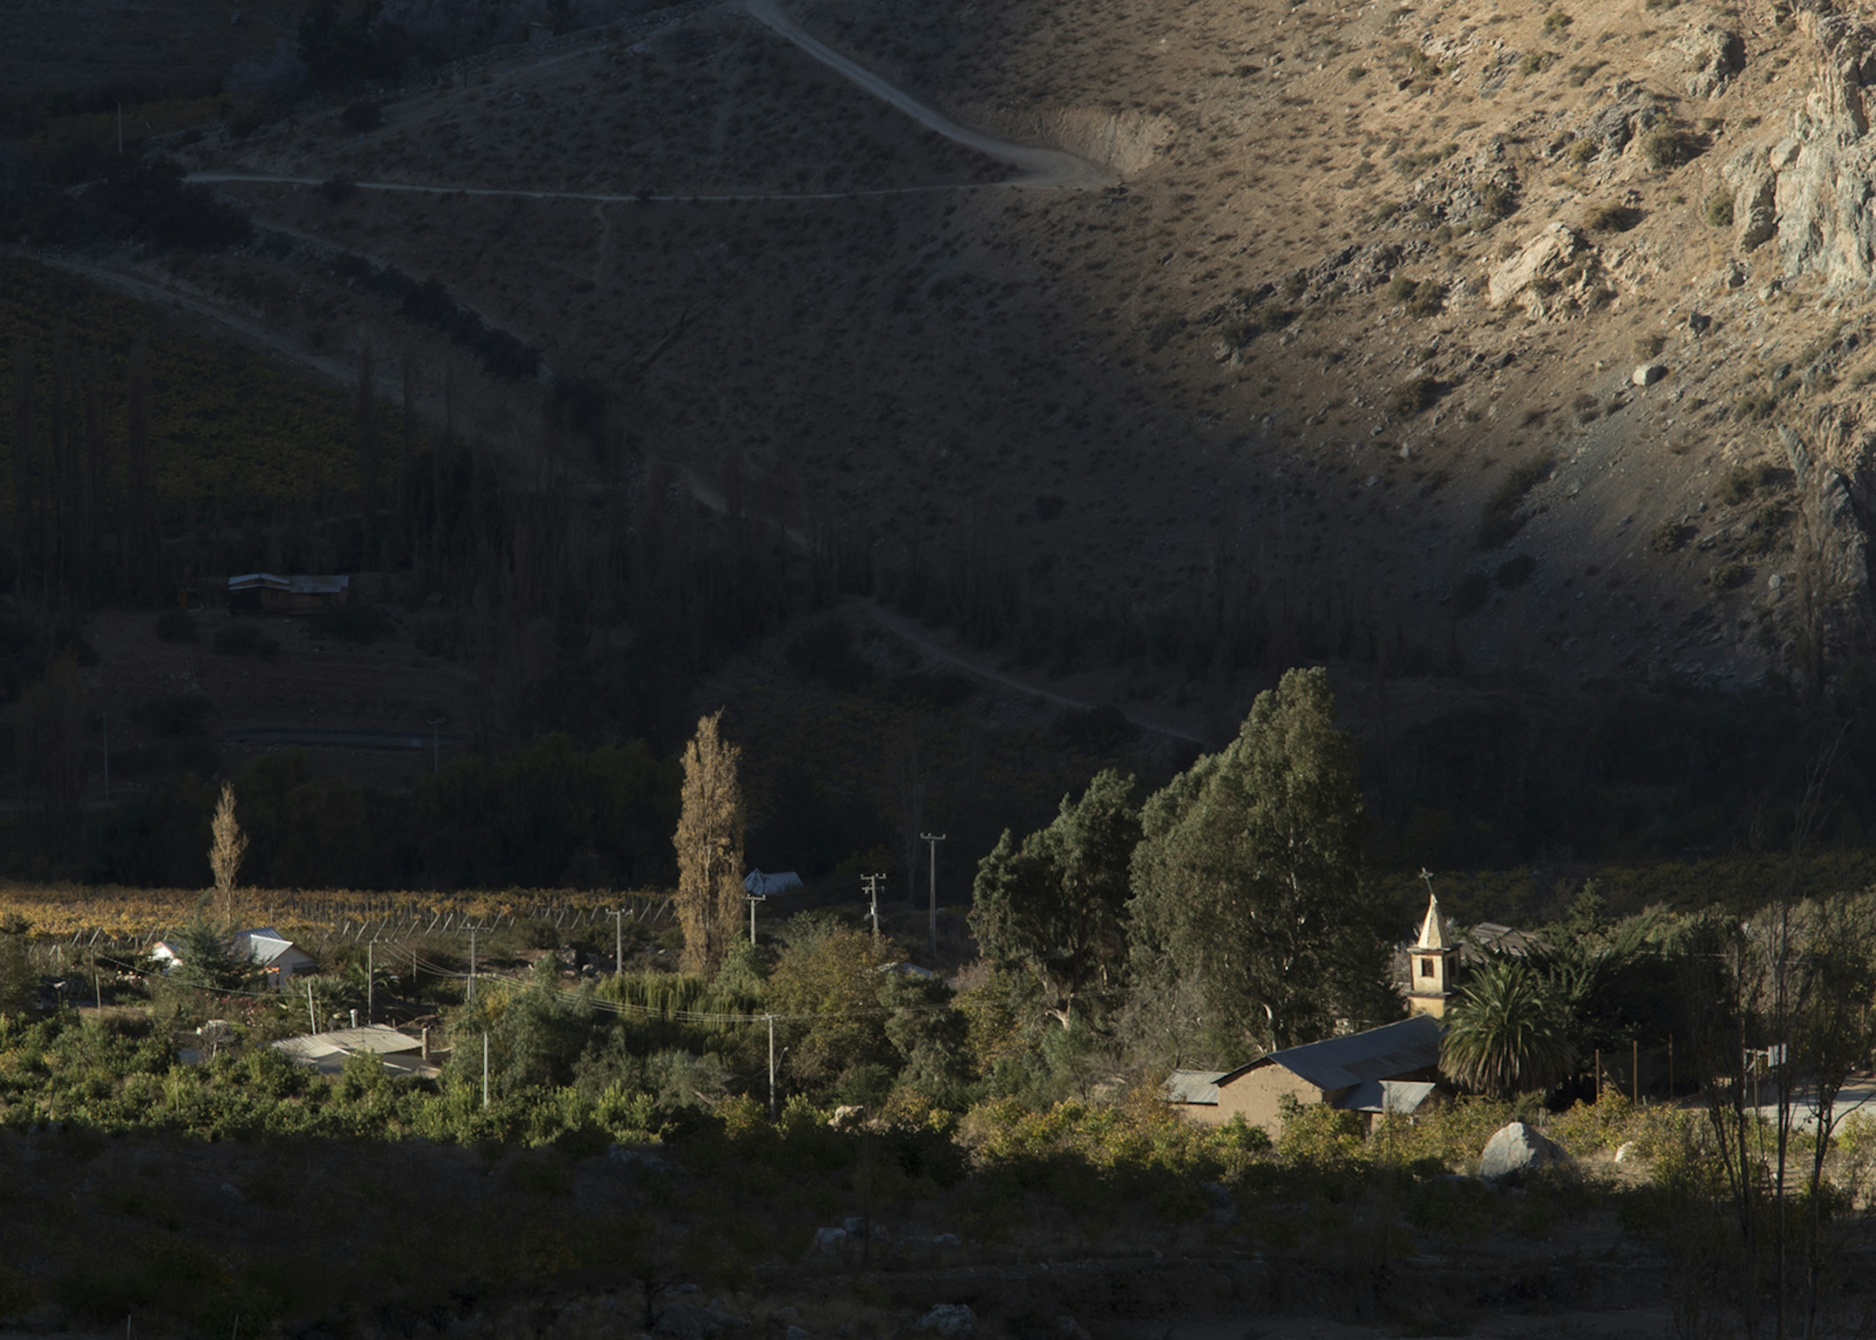
[[[1576,1070],[1570,1017],[1550,983],[1520,959],[1473,974],[1446,1012],[1439,1068],[1497,1098],[1555,1089]]]

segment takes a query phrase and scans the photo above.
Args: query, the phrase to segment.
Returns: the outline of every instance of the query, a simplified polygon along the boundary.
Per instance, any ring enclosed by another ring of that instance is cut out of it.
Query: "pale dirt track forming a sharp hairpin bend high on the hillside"
[[[1009,163],[1022,171],[1022,176],[1013,176],[1007,182],[987,182],[987,184],[946,184],[946,186],[884,186],[865,191],[745,191],[732,195],[651,195],[638,191],[527,191],[501,186],[424,186],[416,182],[353,182],[360,191],[416,191],[422,195],[503,195],[518,197],[529,201],[591,201],[595,205],[628,205],[642,201],[657,203],[692,203],[692,201],[844,201],[863,195],[915,195],[919,191],[970,191],[970,190],[994,190],[1000,186],[1013,186],[1019,190],[1097,190],[1103,186],[1112,186],[1118,178],[1112,173],[1090,163],[1084,158],[1067,154],[1060,148],[1039,148],[1034,145],[1015,145],[1007,139],[996,139],[994,135],[985,135],[983,131],[970,129],[968,126],[959,126],[955,120],[946,116],[942,111],[930,103],[919,101],[904,88],[885,81],[874,71],[867,69],[863,64],[852,56],[842,56],[839,51],[824,43],[814,34],[801,28],[794,19],[784,15],[775,0],[743,0],[743,8],[749,11],[756,23],[773,28],[777,34],[792,41],[803,53],[822,62],[824,66],[839,71],[854,84],[872,94],[880,101],[897,107],[906,116],[915,120],[925,129],[944,135],[949,141],[962,145],[964,148],[976,150],[985,158],[994,158],[998,161]],[[319,186],[317,176],[274,176],[263,173],[189,173],[189,182],[263,182],[274,186]]]

